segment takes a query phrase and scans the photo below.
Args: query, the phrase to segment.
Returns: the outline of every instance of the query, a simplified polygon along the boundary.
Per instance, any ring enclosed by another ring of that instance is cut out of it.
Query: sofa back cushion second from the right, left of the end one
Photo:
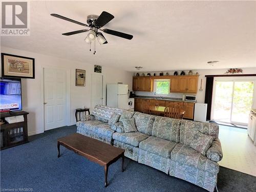
[[[180,140],[180,123],[180,119],[156,116],[151,135],[178,143]]]

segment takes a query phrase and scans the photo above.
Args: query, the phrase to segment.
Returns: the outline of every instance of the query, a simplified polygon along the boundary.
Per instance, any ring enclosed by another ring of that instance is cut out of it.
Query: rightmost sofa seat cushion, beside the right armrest
[[[206,156],[182,143],[178,143],[174,147],[172,153],[170,153],[170,159],[212,174],[219,173],[218,163],[209,160]]]

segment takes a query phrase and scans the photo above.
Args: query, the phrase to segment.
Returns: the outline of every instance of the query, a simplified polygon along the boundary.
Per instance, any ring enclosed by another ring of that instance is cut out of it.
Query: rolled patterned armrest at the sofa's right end
[[[218,162],[222,159],[223,154],[222,154],[222,149],[221,149],[221,142],[220,139],[217,138],[212,142],[212,145],[206,152],[206,156],[208,159]]]

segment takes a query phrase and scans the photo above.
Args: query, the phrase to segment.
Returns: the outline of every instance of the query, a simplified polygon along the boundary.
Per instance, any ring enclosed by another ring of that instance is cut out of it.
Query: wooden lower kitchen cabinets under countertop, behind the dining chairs
[[[143,112],[144,105],[155,105],[156,102],[159,103],[159,106],[168,106],[169,104],[179,104],[179,101],[165,101],[165,100],[157,100],[157,99],[140,99],[135,98],[135,109],[134,111]],[[195,103],[187,102],[187,109],[183,116],[185,119],[194,119],[194,105]]]

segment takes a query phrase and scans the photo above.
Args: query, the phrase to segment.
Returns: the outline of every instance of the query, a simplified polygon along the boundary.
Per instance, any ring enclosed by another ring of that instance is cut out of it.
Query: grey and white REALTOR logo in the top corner
[[[3,36],[29,35],[28,2],[2,2]]]

